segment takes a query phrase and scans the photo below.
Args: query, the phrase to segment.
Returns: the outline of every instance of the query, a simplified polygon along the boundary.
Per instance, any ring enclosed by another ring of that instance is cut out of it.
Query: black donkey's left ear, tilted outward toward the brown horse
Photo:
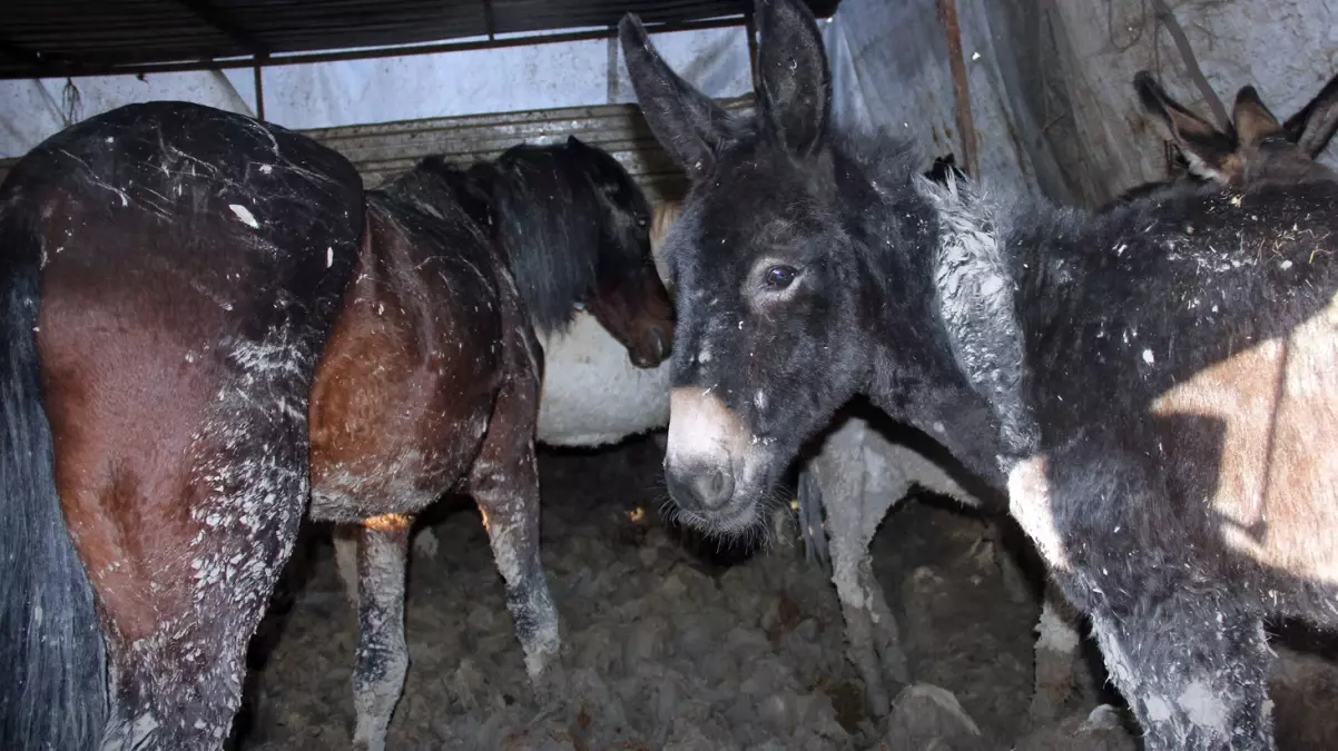
[[[650,132],[689,178],[701,179],[733,134],[733,119],[665,64],[636,15],[622,17],[618,39]]]

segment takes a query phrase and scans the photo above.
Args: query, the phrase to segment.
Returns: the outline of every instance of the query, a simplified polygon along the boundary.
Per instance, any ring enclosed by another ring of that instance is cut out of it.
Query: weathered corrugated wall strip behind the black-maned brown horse
[[[752,96],[723,99],[732,112],[752,108]],[[409,170],[419,159],[444,155],[459,164],[494,159],[518,143],[553,143],[574,135],[598,146],[628,168],[652,202],[680,198],[686,176],[656,142],[633,104],[535,110],[499,115],[471,115],[349,126],[302,131],[348,156],[368,188]],[[0,180],[16,159],[0,162]]]

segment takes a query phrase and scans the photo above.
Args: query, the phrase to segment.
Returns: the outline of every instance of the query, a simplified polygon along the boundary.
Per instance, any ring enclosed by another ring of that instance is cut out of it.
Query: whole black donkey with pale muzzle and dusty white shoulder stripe
[[[1149,750],[1272,748],[1264,620],[1338,627],[1335,175],[1246,96],[1256,163],[1230,190],[1088,214],[937,186],[909,144],[830,126],[807,8],[756,19],[751,119],[621,28],[693,179],[664,249],[682,517],[757,524],[801,441],[864,393],[1008,490]]]

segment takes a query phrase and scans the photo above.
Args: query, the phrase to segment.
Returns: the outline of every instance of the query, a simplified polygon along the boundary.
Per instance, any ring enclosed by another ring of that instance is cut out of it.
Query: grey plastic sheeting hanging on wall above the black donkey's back
[[[1207,115],[1157,0],[955,0],[982,175],[1057,200],[1100,204],[1165,174],[1133,96],[1153,71]],[[1338,0],[1165,0],[1230,108],[1255,84],[1279,116],[1338,71]],[[844,0],[826,29],[836,116],[917,138],[962,162],[947,44],[935,0]],[[1325,162],[1338,164],[1330,148]]]

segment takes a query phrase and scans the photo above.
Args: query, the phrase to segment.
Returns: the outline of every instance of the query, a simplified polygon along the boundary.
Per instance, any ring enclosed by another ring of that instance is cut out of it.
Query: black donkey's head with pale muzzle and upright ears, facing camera
[[[759,498],[867,369],[818,24],[796,0],[760,0],[756,20],[751,119],[678,78],[636,16],[619,27],[646,120],[692,179],[664,245],[678,342],[665,474],[684,520],[723,533],[760,518]]]

